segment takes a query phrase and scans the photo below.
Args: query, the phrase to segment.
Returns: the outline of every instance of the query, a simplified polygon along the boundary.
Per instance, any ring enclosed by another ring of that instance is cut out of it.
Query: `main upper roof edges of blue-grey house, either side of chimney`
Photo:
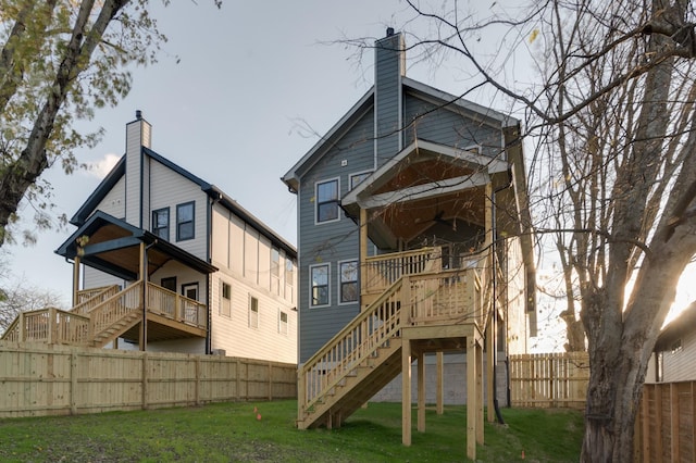
[[[506,128],[520,123],[519,120],[506,115],[490,108],[476,104],[472,101],[456,97],[451,93],[438,90],[435,87],[413,80],[406,76],[401,77],[403,92],[409,92],[418,98],[430,100],[435,104],[440,104],[443,109],[449,111],[464,112],[472,118],[478,120],[487,125]],[[324,154],[324,152],[336,143],[374,105],[374,86],[364,93],[356,104],[324,135],[281,179],[293,191],[297,191],[302,175],[308,172]]]

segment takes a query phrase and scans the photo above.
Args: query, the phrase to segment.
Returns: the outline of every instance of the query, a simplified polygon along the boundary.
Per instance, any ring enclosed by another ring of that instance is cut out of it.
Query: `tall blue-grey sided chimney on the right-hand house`
[[[406,42],[401,33],[387,28],[374,43],[375,168],[403,147],[401,134],[401,77],[406,75]]]

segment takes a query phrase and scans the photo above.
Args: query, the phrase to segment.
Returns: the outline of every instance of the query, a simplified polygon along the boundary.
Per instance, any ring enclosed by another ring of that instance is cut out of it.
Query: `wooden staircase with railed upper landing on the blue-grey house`
[[[401,373],[405,335],[443,347],[458,328],[485,329],[484,285],[480,267],[399,274],[299,368],[297,427],[340,426]]]

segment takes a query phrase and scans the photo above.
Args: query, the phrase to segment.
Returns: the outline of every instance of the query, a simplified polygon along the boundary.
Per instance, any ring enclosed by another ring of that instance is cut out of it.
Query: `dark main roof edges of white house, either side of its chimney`
[[[225,192],[222,191],[220,188],[217,188],[212,184],[209,184],[208,182],[203,180],[197,175],[191,174],[189,171],[185,170],[178,164],[175,164],[174,162],[152,151],[149,148],[144,147],[142,153],[158,161],[162,165],[171,168],[177,174],[182,175],[184,178],[187,178],[188,180],[198,185],[200,189],[203,192],[206,192],[209,197],[213,198],[214,200],[219,200],[222,205],[224,205],[227,210],[233,212],[238,217],[243,218],[245,222],[249,223],[253,228],[259,230],[261,235],[265,236],[273,245],[283,249],[288,255],[293,258],[297,258],[297,249],[293,245],[290,245],[283,237],[277,235],[271,228],[269,228],[263,222],[261,222],[253,214],[251,214],[249,211],[247,211],[241,205],[239,205],[239,203],[236,202],[234,199],[225,195]],[[124,154],[119,160],[116,165],[111,170],[109,175],[107,175],[107,177],[104,177],[104,179],[101,180],[101,183],[97,186],[95,191],[92,191],[92,193],[87,198],[85,203],[77,210],[75,215],[73,215],[73,217],[70,220],[71,224],[76,225],[78,227],[85,224],[85,222],[90,217],[90,214],[95,211],[97,205],[99,205],[99,203],[104,199],[104,197],[109,193],[109,191],[111,191],[111,189],[116,185],[116,183],[125,175],[125,172],[126,172],[125,159],[126,157]]]

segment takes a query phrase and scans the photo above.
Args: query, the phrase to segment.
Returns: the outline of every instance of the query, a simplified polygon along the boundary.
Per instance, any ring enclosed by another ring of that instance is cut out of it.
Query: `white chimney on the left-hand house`
[[[142,112],[135,112],[135,121],[126,124],[126,222],[137,227],[148,227],[148,209],[145,198],[149,198],[149,184],[146,180],[146,158],[142,148],[150,148],[152,126],[142,118]]]

